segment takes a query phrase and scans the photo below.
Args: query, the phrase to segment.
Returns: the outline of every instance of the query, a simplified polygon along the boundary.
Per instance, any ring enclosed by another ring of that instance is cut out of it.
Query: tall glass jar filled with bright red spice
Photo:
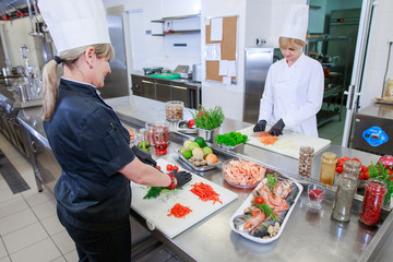
[[[368,226],[376,226],[381,214],[386,182],[371,178],[366,184],[366,193],[360,212],[360,221]]]

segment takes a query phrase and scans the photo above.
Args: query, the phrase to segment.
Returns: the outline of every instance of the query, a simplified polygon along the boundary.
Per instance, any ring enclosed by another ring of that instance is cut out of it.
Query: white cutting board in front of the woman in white
[[[248,144],[262,147],[282,155],[293,158],[299,158],[299,148],[302,145],[309,145],[314,148],[314,154],[331,144],[330,140],[319,139],[291,131],[283,131],[283,134],[277,136],[278,141],[273,145],[264,145],[259,141],[258,136],[253,136],[253,126],[239,130],[238,132],[248,135]]]

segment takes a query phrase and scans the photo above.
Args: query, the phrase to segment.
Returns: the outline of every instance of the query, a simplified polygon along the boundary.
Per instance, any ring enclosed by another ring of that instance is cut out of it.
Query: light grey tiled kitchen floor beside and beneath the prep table
[[[56,215],[56,200],[38,192],[31,164],[0,133],[0,150],[21,174],[29,190],[12,193],[0,175],[0,262],[75,262],[74,242]],[[160,246],[135,262],[181,261]]]

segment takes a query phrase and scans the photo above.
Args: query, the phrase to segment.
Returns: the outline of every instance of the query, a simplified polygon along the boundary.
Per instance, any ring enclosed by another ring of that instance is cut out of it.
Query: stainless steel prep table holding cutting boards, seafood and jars
[[[118,112],[119,117],[134,127],[142,127],[144,122],[165,119],[164,103],[138,96],[118,97],[106,100]],[[22,117],[22,120],[24,118]],[[25,119],[25,124],[28,124]],[[249,123],[226,119],[221,133],[240,130]],[[45,134],[44,134],[45,135]],[[187,135],[171,135],[170,152],[179,148]],[[366,165],[378,159],[377,155],[344,148],[336,145],[325,151],[336,152],[340,156],[358,157]],[[236,157],[217,151],[218,157]],[[312,178],[319,177],[321,154],[314,156]],[[278,170],[288,177],[298,178],[297,160],[246,145],[245,157]],[[175,154],[164,156],[170,162],[177,162]],[[180,163],[179,163],[180,164]],[[196,261],[261,261],[274,259],[277,261],[368,261],[373,260],[390,237],[393,227],[393,215],[385,212],[385,219],[377,230],[364,226],[358,222],[361,201],[357,198],[350,223],[338,223],[331,219],[333,191],[326,194],[320,212],[311,212],[306,203],[307,193],[299,199],[281,238],[269,245],[254,243],[233,233],[229,228],[229,217],[237,211],[251,190],[230,187],[223,180],[222,169],[207,171],[204,177],[219,186],[228,188],[239,194],[239,199],[221,211],[214,213],[188,230],[169,239],[157,230],[152,233],[163,242],[172,248],[184,260]],[[300,179],[301,180],[301,179]],[[302,181],[303,184],[307,181]],[[142,224],[134,211],[131,214]],[[388,215],[388,216],[386,216]],[[385,251],[385,249],[384,249]],[[386,253],[386,252],[384,252]],[[389,252],[388,252],[389,253]]]

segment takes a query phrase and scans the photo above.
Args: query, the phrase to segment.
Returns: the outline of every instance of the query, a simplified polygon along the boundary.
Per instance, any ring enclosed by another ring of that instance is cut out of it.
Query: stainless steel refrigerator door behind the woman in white
[[[246,48],[245,109],[243,121],[257,123],[260,100],[263,94],[270,66],[273,63],[273,48]]]

